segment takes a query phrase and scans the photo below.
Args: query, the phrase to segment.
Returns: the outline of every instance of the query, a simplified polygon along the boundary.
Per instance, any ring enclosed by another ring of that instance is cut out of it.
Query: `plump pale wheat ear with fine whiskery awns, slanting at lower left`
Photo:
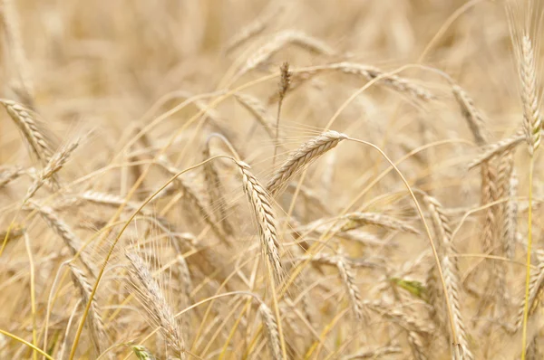
[[[138,298],[146,308],[151,322],[160,326],[162,335],[167,339],[176,356],[185,358],[185,342],[181,337],[180,325],[162,294],[159,284],[153,279],[151,271],[139,255],[126,252],[125,256],[130,262],[128,270],[131,285],[136,287]]]

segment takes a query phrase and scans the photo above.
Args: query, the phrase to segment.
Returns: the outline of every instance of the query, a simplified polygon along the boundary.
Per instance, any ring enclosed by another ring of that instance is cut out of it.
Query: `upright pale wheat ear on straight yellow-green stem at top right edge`
[[[542,128],[539,112],[539,96],[537,91],[537,71],[535,54],[528,35],[521,41],[521,101],[523,102],[523,130],[529,145],[529,154],[540,145],[540,129]]]

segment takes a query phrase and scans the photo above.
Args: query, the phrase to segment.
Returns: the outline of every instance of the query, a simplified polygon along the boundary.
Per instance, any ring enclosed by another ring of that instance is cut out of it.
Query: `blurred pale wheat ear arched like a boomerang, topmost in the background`
[[[268,43],[265,43],[263,46],[253,52],[253,55],[249,57],[248,60],[241,66],[238,74],[236,75],[236,78],[242,76],[248,71],[257,68],[257,66],[259,66],[263,62],[267,62],[267,60],[272,55],[274,55],[280,49],[286,47],[287,44],[291,43],[307,49],[311,52],[316,52],[328,56],[335,54],[335,51],[326,43],[323,43],[316,38],[308,36],[306,35],[306,33],[287,30],[281,33],[277,33],[272,38],[272,40],[270,40]]]

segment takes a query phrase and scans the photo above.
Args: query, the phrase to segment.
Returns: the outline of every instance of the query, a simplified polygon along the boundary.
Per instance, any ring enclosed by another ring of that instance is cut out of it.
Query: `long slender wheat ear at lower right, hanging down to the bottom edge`
[[[453,326],[457,332],[457,338],[452,340],[455,344],[461,346],[467,359],[473,359],[474,356],[469,349],[467,330],[461,315],[459,269],[457,258],[452,256],[455,255],[456,251],[452,244],[452,229],[450,228],[449,219],[442,211],[442,205],[435,198],[425,196],[424,201],[431,213],[438,240],[442,243],[442,271],[450,303],[452,304]]]

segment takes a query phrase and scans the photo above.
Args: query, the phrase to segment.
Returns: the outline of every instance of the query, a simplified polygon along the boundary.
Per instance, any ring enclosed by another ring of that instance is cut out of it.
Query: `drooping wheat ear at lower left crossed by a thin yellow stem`
[[[87,304],[89,298],[91,298],[92,285],[82,270],[79,270],[72,263],[69,264],[69,266],[70,270],[72,270],[73,284],[75,285],[75,288],[80,291],[82,304]],[[98,308],[98,304],[96,303],[96,298],[92,298],[88,319],[91,324],[89,328],[91,330],[92,345],[96,349],[98,355],[100,355],[108,347],[108,335],[102,321],[102,316],[100,315],[100,308]]]

